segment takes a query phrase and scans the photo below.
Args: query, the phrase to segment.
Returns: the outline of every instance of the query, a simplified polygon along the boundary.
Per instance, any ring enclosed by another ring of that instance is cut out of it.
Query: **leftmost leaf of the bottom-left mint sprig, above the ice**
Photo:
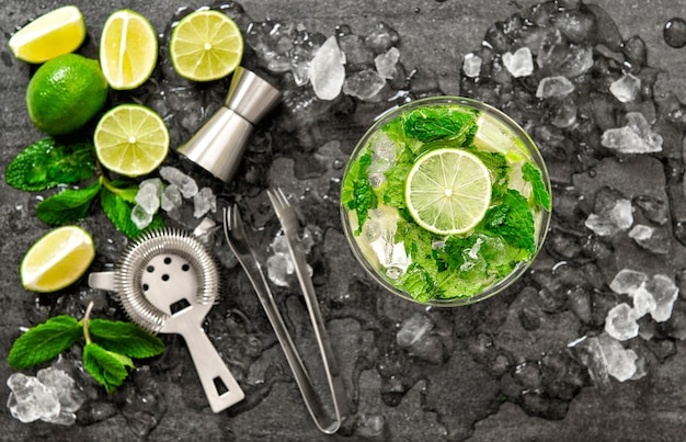
[[[13,369],[27,369],[57,358],[83,337],[83,327],[68,315],[55,316],[20,336],[8,356]]]

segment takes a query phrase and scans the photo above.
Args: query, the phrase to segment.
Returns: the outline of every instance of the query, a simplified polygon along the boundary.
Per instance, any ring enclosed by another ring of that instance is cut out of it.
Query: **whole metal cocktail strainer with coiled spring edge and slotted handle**
[[[209,406],[219,412],[245,395],[203,330],[221,279],[198,229],[193,235],[171,228],[144,234],[122,252],[114,271],[91,273],[88,281],[93,288],[115,292],[139,326],[183,336]]]

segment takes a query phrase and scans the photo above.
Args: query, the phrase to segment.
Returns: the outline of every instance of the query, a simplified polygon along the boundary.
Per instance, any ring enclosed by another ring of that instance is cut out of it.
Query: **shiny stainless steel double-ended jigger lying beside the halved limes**
[[[278,103],[281,92],[254,72],[238,67],[225,105],[178,151],[224,182],[229,182],[255,124]]]

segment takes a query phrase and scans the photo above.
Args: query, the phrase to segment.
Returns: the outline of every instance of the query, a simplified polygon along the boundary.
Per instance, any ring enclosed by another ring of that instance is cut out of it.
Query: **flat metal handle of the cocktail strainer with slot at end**
[[[199,325],[188,325],[180,329],[179,333],[186,341],[211,410],[219,412],[243,400],[245,394],[203,328]]]

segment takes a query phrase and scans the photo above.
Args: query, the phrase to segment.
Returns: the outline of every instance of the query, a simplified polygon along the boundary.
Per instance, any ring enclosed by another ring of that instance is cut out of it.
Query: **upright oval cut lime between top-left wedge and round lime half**
[[[102,30],[100,65],[112,89],[142,84],[157,63],[157,34],[145,16],[128,9],[114,12]]]

